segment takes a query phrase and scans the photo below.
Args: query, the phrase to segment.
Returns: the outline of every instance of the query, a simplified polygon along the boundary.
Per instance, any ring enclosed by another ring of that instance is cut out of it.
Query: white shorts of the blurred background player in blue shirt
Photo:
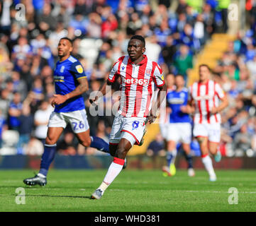
[[[191,143],[191,124],[187,122],[168,124],[167,141]]]

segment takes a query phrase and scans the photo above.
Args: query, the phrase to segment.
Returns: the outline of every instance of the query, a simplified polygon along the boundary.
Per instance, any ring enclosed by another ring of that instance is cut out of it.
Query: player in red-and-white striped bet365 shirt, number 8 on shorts
[[[144,54],[144,38],[140,35],[131,37],[127,50],[128,56],[116,61],[106,83],[99,90],[99,95],[105,95],[106,85],[112,85],[117,78],[121,78],[120,106],[113,121],[109,140],[109,150],[114,156],[113,162],[108,168],[104,181],[91,198],[101,198],[107,187],[121,172],[126,154],[134,144],[140,144],[143,138],[146,120],[148,119],[149,123],[155,121],[155,111],[166,96],[162,69]],[[162,91],[157,93],[157,107],[152,107],[154,85]],[[94,101],[97,99],[98,97]]]

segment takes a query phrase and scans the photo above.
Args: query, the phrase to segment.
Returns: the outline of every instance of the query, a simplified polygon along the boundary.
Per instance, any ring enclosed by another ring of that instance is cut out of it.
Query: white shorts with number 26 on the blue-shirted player
[[[48,127],[66,128],[70,124],[74,133],[82,133],[89,129],[87,112],[85,109],[74,112],[52,112],[48,122]]]

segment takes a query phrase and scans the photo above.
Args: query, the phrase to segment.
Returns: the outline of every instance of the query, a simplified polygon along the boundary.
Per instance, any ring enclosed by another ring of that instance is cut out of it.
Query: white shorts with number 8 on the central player
[[[118,144],[121,138],[126,138],[131,145],[139,144],[143,138],[146,118],[123,117],[117,114],[109,136],[109,144]]]

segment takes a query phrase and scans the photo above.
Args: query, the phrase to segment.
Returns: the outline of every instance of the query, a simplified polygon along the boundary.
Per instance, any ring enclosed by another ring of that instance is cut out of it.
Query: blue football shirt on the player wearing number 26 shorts
[[[65,61],[57,61],[54,71],[55,92],[56,94],[66,95],[72,92],[80,78],[86,78],[84,69],[80,62],[70,56]],[[72,97],[61,105],[55,105],[55,112],[74,112],[84,109],[84,98],[82,95]]]

